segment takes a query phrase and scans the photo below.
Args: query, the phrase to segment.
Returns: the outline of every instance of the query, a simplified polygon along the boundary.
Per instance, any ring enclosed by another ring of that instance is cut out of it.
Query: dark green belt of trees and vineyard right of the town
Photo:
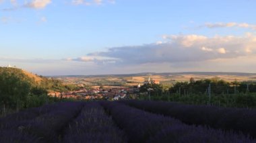
[[[256,107],[256,82],[227,82],[216,77],[199,81],[191,78],[169,88],[145,84],[140,87],[138,98],[221,107]]]

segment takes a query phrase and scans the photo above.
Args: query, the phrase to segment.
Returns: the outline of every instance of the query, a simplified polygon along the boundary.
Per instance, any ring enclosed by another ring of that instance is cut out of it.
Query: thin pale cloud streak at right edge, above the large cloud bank
[[[229,22],[229,23],[205,23],[204,26],[200,27],[207,27],[207,28],[230,28],[230,27],[237,27],[237,28],[249,28],[251,30],[256,30],[256,25],[252,25],[249,23],[236,23],[236,22]]]

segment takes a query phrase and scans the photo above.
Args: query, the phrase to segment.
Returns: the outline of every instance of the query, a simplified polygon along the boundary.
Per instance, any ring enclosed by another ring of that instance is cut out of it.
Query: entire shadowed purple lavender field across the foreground
[[[256,142],[255,115],[157,101],[63,102],[0,118],[0,142]]]

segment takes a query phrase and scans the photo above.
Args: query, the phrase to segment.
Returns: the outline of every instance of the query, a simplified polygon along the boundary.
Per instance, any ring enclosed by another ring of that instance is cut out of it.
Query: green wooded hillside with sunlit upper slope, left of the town
[[[20,68],[0,67],[0,116],[15,109],[36,107],[55,101],[49,91],[70,91],[75,86],[61,81],[34,75]],[[1,114],[2,113],[2,114]]]

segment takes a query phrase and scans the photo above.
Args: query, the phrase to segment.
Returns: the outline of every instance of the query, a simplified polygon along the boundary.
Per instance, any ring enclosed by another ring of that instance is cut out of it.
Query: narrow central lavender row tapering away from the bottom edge
[[[81,113],[67,126],[63,142],[127,142],[125,134],[115,126],[103,107],[86,103]]]

